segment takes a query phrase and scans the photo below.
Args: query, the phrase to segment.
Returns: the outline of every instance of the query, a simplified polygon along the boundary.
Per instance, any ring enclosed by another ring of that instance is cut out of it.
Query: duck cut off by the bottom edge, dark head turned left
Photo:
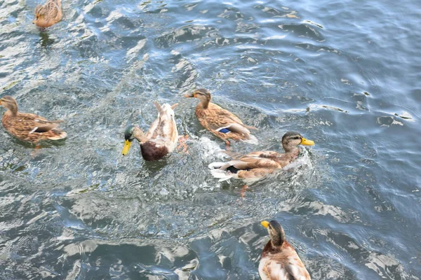
[[[285,239],[285,232],[277,221],[262,221],[270,240],[262,251],[259,275],[262,280],[310,280],[294,247]]]

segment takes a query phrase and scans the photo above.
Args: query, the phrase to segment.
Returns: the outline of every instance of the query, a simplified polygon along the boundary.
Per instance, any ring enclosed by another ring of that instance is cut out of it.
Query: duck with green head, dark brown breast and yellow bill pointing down
[[[140,143],[142,157],[147,161],[161,160],[165,155],[174,151],[178,141],[177,125],[175,125],[173,109],[178,105],[159,105],[154,102],[158,109],[158,118],[152,123],[147,134],[137,126],[129,126],[124,132],[123,155],[127,155],[131,142],[137,139]]]

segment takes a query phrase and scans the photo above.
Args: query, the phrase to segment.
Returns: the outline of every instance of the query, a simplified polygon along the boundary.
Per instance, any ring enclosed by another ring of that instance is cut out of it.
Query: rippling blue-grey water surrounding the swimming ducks
[[[272,218],[313,279],[420,279],[419,1],[63,1],[46,31],[37,3],[0,2],[0,95],[69,137],[32,155],[0,130],[0,279],[258,279]],[[241,199],[194,87],[260,128],[234,151],[316,146]],[[188,154],[123,158],[154,100]]]

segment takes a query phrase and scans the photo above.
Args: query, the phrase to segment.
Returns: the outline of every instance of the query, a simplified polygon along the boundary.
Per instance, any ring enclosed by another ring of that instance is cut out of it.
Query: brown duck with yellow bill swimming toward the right
[[[298,132],[286,132],[282,137],[285,153],[274,151],[258,151],[247,155],[232,155],[229,162],[213,162],[209,165],[210,172],[220,181],[230,178],[253,181],[286,167],[293,162],[300,153],[298,145],[314,145],[314,141],[307,140]],[[229,153],[227,153],[230,155]]]

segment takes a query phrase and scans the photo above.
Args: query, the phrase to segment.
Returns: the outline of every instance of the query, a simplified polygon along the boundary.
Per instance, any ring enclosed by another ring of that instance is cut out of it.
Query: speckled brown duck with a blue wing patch
[[[186,94],[185,97],[196,97],[200,100],[199,105],[196,106],[196,117],[199,123],[216,137],[225,140],[227,144],[229,144],[228,139],[258,144],[258,139],[250,132],[250,129],[257,130],[257,128],[244,125],[233,113],[210,102],[208,90],[201,88],[191,94]]]

